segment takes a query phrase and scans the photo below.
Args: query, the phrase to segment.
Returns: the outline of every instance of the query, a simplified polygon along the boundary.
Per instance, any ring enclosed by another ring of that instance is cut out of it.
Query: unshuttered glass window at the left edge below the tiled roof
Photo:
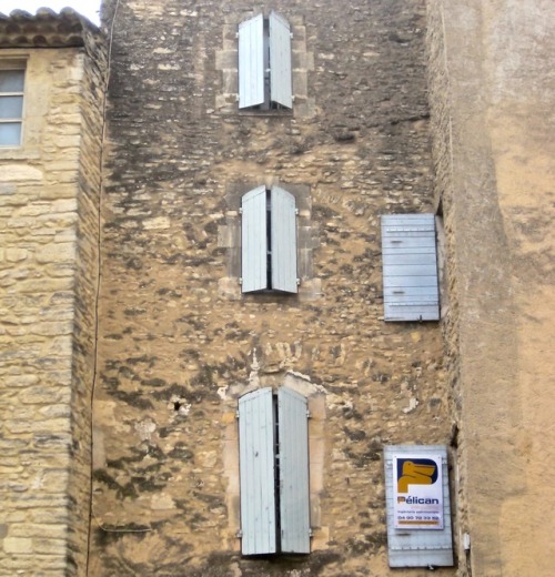
[[[23,125],[24,69],[0,68],[0,146],[19,146]]]

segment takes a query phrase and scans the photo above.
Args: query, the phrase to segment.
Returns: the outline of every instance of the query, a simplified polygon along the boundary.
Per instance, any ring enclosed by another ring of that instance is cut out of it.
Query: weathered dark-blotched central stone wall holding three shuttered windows
[[[235,26],[270,8],[302,107],[240,114]],[[112,18],[91,575],[387,575],[382,447],[451,431],[438,325],[382,320],[380,214],[433,211],[424,2],[107,2]],[[241,296],[232,199],[278,182],[310,191],[312,281]],[[285,382],[314,413],[313,551],[246,559],[238,397]]]

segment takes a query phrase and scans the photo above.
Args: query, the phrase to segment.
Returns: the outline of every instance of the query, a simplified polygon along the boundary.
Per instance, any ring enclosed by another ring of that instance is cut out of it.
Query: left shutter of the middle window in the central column
[[[243,195],[241,209],[242,291],[262,291],[268,287],[266,188]]]

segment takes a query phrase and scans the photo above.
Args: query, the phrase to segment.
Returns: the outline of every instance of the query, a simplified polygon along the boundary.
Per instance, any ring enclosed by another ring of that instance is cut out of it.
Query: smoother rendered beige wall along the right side
[[[428,2],[460,574],[553,573],[553,53],[546,1]]]

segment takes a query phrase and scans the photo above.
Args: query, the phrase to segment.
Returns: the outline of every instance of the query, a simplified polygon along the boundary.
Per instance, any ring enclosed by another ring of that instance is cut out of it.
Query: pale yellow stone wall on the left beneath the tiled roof
[[[0,58],[27,63],[23,143],[0,149],[2,575],[87,564],[103,60],[68,19],[85,47],[24,40],[67,22],[52,14],[2,28],[23,47]]]

